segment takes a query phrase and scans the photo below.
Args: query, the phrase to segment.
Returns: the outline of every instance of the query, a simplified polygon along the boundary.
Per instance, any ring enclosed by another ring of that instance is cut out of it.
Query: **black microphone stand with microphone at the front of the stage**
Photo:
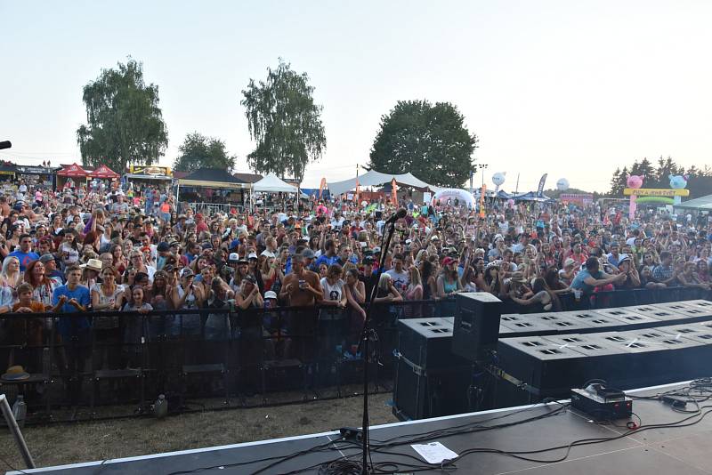
[[[361,473],[363,475],[368,475],[368,458],[370,457],[370,446],[368,443],[368,363],[369,363],[369,349],[368,349],[368,339],[371,334],[374,334],[374,330],[369,327],[371,320],[371,313],[373,311],[373,301],[378,293],[378,284],[381,281],[381,274],[384,272],[385,258],[388,254],[388,247],[391,246],[391,238],[393,237],[393,232],[395,231],[395,221],[386,223],[384,226],[384,232],[381,235],[381,260],[378,262],[378,272],[376,272],[376,286],[371,290],[371,294],[368,295],[368,307],[366,308],[366,318],[363,320],[363,329],[361,330],[361,339],[359,342],[359,350],[363,347],[363,420],[361,421],[361,455],[362,455],[362,465]],[[384,244],[385,240],[385,244]]]

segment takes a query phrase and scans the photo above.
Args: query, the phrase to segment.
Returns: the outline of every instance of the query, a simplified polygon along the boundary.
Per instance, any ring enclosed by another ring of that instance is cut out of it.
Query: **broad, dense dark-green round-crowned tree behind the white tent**
[[[398,101],[381,117],[368,166],[459,188],[473,172],[477,148],[477,136],[469,133],[464,121],[449,102]]]

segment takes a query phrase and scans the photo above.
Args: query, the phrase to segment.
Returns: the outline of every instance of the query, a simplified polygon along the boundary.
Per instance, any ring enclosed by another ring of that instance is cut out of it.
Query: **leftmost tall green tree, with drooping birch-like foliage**
[[[129,58],[84,86],[87,125],[77,129],[84,165],[106,164],[123,173],[127,164],[158,162],[168,133],[158,108],[158,85],[143,81],[143,65]]]

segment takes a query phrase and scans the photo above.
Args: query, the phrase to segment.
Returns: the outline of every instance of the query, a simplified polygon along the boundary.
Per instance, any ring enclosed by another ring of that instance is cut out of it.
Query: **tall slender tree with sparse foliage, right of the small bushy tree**
[[[250,136],[257,143],[247,164],[257,173],[290,173],[301,181],[304,169],[327,148],[321,106],[314,103],[314,87],[306,73],[298,74],[281,58],[267,68],[267,80],[250,79],[242,91]]]

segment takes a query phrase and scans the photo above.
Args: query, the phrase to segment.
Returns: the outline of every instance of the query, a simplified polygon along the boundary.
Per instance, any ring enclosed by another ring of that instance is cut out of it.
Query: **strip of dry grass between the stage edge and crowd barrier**
[[[370,399],[372,424],[396,422],[392,394]],[[274,439],[360,425],[360,398],[318,400],[281,406],[176,415],[157,420],[64,423],[28,427],[23,433],[37,466],[88,462],[253,440]],[[12,436],[0,435],[0,456],[23,468]]]

